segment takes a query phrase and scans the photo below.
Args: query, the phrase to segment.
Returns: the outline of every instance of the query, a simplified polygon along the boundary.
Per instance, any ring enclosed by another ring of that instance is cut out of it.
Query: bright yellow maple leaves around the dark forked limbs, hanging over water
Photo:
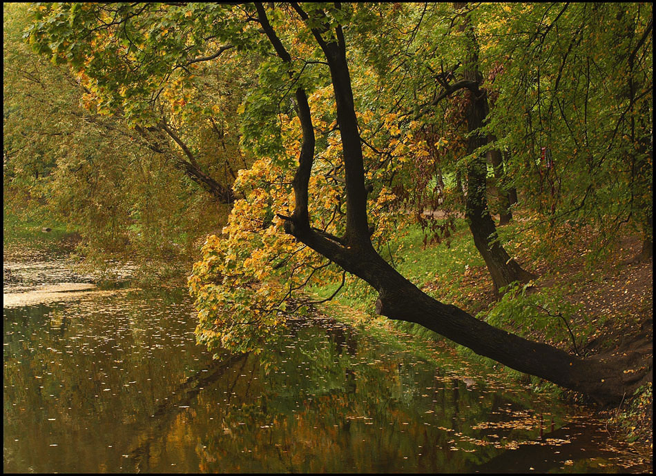
[[[342,146],[334,117],[331,88],[322,88],[309,97],[316,119],[316,135],[325,138],[325,148],[317,150],[309,179],[311,225],[333,235],[341,235],[345,199],[343,197]],[[293,172],[298,164],[302,132],[298,117],[282,117],[285,157],[262,157],[251,168],[240,170],[233,188],[243,198],[235,201],[228,224],[220,236],[211,235],[202,248],[202,260],[189,277],[191,295],[196,299],[200,322],[197,339],[210,348],[249,351],[284,326],[296,306],[294,297],[302,288],[326,281],[338,281],[340,269],[283,228],[278,215],[293,214]],[[419,150],[397,126],[396,115],[374,117],[371,111],[360,115],[363,129],[381,124],[385,137],[380,163],[374,150],[364,148],[365,161],[378,163],[367,172],[376,179],[398,168]],[[371,130],[363,139],[376,139]],[[318,141],[319,142],[319,141]],[[381,152],[380,150],[378,152]],[[374,243],[382,246],[395,229],[397,197],[388,186],[369,195],[369,220],[374,225]]]

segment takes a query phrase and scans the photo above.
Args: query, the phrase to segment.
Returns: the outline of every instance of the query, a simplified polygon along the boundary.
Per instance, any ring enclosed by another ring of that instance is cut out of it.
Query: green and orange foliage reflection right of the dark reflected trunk
[[[371,471],[406,463],[464,470],[467,461],[498,453],[482,448],[476,457],[448,449],[453,432],[438,426],[458,428],[463,417],[485,418],[480,394],[463,393],[459,380],[418,366],[405,353],[385,355],[371,342],[363,346],[354,339],[358,352],[344,352],[348,328],[296,326],[286,332],[287,339],[267,353],[275,370],[265,375],[260,368],[264,381],[253,395],[262,395],[222,408],[224,429],[199,435],[201,470]]]

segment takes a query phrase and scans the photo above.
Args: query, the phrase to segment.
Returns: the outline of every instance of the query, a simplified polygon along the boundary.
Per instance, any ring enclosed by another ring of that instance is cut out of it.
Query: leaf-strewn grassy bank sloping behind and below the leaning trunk
[[[418,228],[409,228],[396,238],[392,257],[396,268],[416,286],[432,297],[459,306],[479,319],[505,328],[529,339],[552,344],[581,355],[631,352],[641,350],[653,355],[653,261],[637,263],[639,239],[627,235],[606,250],[606,259],[592,261],[590,241],[594,238],[573,230],[557,230],[557,238],[571,237],[570,246],[545,252],[546,239],[517,220],[501,228],[508,239],[506,249],[519,263],[538,277],[532,286],[508,292],[497,299],[483,259],[476,251],[464,221],[456,222],[450,244],[423,245]],[[559,235],[559,236],[558,236]],[[527,240],[528,238],[528,240]],[[554,237],[552,237],[553,239]],[[313,288],[326,298],[336,285]],[[439,341],[454,346],[463,357],[488,366],[503,366],[472,351],[456,346],[421,326],[379,318],[374,313],[375,292],[351,279],[330,304],[330,312],[347,321],[373,323],[376,326],[409,333],[414,341]],[[546,310],[543,312],[537,306]],[[512,315],[510,321],[508,316]],[[563,318],[561,319],[562,316]],[[563,324],[567,321],[571,330]],[[574,340],[572,340],[572,335]],[[414,345],[414,344],[413,344]],[[536,393],[546,393],[568,401],[585,404],[580,395],[553,384],[505,368],[509,378],[530,386]],[[627,395],[617,408],[597,410],[606,419],[608,431],[616,439],[628,442],[641,455],[651,455],[653,448],[653,393],[651,376],[635,395]]]

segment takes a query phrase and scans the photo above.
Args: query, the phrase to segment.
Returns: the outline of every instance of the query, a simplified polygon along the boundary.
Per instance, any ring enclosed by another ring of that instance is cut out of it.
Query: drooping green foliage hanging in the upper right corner
[[[503,64],[488,128],[545,223],[592,226],[608,250],[653,236],[653,6],[530,3],[472,10],[486,67]],[[547,160],[542,156],[545,155]]]

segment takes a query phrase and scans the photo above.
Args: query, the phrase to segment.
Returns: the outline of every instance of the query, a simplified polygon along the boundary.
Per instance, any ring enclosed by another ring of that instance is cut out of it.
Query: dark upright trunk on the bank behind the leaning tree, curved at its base
[[[460,10],[463,4],[456,3],[454,6],[457,10]],[[465,17],[461,28],[465,30],[465,36],[469,42],[469,53],[463,65],[463,76],[465,81],[479,85],[481,83],[481,73],[478,67],[478,43],[467,17]],[[479,147],[488,143],[487,136],[476,132],[483,127],[485,117],[488,115],[488,97],[486,91],[479,89],[477,86],[467,91],[467,95],[470,97],[465,112],[467,132],[470,133],[469,139],[467,139],[467,155],[472,155]],[[469,222],[476,249],[481,253],[492,276],[494,291],[499,292],[500,288],[508,286],[513,281],[526,283],[535,276],[522,269],[499,243],[496,226],[488,208],[487,177],[488,165],[485,162],[485,157],[482,154],[472,155],[467,163],[465,217]]]

